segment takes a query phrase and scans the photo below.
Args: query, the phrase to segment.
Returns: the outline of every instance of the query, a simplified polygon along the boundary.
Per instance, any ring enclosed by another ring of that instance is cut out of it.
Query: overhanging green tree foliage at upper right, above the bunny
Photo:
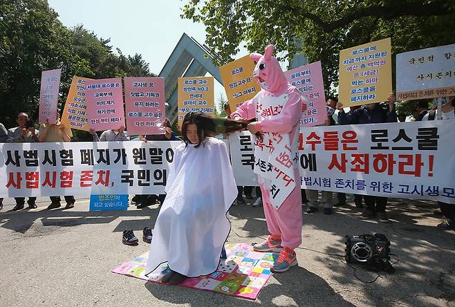
[[[274,44],[286,59],[321,60],[326,89],[337,86],[344,48],[391,37],[396,55],[455,42],[455,0],[190,0],[181,17],[206,26],[217,64],[241,44],[250,52]]]

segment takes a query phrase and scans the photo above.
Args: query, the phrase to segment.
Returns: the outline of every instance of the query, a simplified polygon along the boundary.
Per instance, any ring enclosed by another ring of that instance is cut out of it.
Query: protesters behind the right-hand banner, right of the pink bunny
[[[327,117],[326,126],[335,124],[376,124],[385,122],[414,122],[420,120],[437,120],[441,119],[455,119],[455,97],[447,97],[445,103],[440,109],[441,115],[438,117],[438,110],[436,106],[430,109],[428,100],[416,100],[414,110],[411,116],[407,118],[405,113],[397,113],[395,105],[395,97],[393,94],[389,95],[387,102],[365,104],[363,106],[351,106],[349,109],[344,108],[342,102],[338,102],[336,97],[327,97],[326,108]],[[225,111],[228,106],[225,106]],[[335,109],[337,113],[335,114]],[[346,109],[346,110],[345,110]],[[229,109],[228,109],[229,111]],[[228,113],[227,111],[227,113]],[[248,194],[250,189],[248,187],[239,187],[239,195],[237,196],[237,203],[245,203],[242,192],[247,198],[252,198]],[[319,203],[323,207],[324,214],[332,214],[333,207],[344,207],[346,203],[346,194],[337,193],[336,202],[334,201],[333,192],[317,191],[312,189],[302,190],[302,200],[308,203],[306,212],[313,214],[318,210]],[[387,197],[383,196],[369,196],[369,195],[353,195],[355,207],[364,209],[361,218],[371,219],[377,218],[382,223],[388,223],[389,218],[386,213]],[[438,202],[439,210],[434,210],[438,216],[443,216],[445,220],[437,225],[440,230],[455,230],[455,205]]]

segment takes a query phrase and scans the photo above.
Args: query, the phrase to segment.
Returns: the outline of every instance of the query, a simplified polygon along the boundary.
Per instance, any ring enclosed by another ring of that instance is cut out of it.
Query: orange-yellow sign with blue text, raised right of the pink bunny
[[[338,100],[344,107],[387,101],[392,92],[391,39],[340,51]]]

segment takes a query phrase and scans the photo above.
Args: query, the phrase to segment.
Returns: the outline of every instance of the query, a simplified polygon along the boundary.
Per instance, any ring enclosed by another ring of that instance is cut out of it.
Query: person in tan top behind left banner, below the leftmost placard
[[[58,110],[55,124],[50,124],[49,119],[47,119],[46,123],[39,126],[39,142],[71,142],[71,138],[73,138],[73,132],[60,122]],[[65,209],[73,208],[76,202],[74,196],[64,197],[66,201]],[[50,205],[48,205],[47,209],[51,210],[60,207],[60,201],[60,196],[50,196]]]

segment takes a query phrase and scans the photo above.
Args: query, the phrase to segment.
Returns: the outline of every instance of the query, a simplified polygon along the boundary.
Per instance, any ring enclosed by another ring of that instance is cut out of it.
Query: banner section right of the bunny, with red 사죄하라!
[[[301,185],[455,204],[454,130],[455,120],[301,129]]]

